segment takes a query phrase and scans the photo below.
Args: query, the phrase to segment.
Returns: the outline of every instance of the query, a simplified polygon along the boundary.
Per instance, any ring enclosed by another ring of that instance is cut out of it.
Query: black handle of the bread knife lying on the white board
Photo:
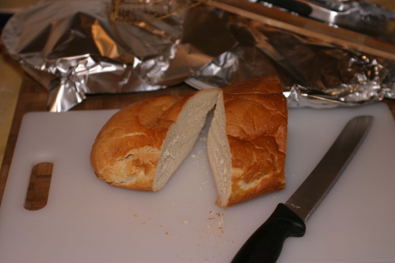
[[[279,203],[273,214],[240,248],[231,263],[274,263],[287,237],[303,237],[306,225],[286,205]]]

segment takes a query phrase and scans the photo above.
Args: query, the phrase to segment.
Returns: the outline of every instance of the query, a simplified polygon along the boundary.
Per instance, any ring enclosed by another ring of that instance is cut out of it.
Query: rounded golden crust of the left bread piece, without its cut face
[[[152,191],[167,131],[193,94],[158,96],[115,113],[92,146],[90,162],[96,176],[113,186]]]

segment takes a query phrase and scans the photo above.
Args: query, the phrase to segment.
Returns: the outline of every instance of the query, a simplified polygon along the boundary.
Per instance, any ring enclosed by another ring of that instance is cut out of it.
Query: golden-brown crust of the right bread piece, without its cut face
[[[288,110],[276,77],[223,91],[232,162],[229,206],[285,187]]]

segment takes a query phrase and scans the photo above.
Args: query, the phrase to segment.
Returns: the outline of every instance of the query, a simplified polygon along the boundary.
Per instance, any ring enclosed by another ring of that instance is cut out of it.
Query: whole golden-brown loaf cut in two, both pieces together
[[[284,188],[288,111],[276,77],[125,107],[96,137],[90,162],[97,177],[113,186],[160,190],[192,150],[215,104],[207,149],[216,204],[228,207]]]

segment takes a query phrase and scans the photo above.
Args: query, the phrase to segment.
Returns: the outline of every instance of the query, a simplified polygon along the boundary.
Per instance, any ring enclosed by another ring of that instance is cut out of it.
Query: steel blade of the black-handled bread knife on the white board
[[[365,139],[373,119],[372,116],[352,118],[320,163],[286,201],[285,205],[304,222],[307,222],[346,169]]]

